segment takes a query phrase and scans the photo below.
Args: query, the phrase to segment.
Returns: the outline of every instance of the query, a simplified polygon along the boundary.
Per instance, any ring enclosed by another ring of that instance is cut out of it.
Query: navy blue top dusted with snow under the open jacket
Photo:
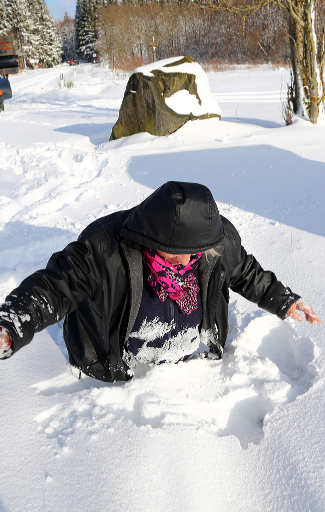
[[[198,279],[198,268],[193,273]],[[199,344],[198,326],[202,321],[200,292],[197,302],[197,309],[188,315],[182,313],[171,298],[160,301],[148,281],[148,270],[144,265],[141,305],[126,341],[129,351],[141,362],[177,362],[189,357]]]

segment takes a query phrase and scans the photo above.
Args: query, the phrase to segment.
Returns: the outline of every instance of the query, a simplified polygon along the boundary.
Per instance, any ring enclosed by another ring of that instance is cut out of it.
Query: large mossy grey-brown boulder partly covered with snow
[[[207,76],[193,57],[159,60],[133,71],[109,140],[140,132],[169,135],[194,119],[221,118]]]

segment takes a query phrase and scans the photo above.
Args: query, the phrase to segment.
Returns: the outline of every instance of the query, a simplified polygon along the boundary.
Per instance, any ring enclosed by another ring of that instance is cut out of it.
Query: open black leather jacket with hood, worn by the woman
[[[52,255],[47,267],[25,279],[0,307],[13,352],[34,332],[65,316],[63,334],[72,365],[104,381],[132,373],[124,343],[140,307],[141,245],[169,253],[194,253],[222,243],[222,254],[202,255],[199,286],[202,333],[218,358],[228,333],[228,288],[284,318],[299,298],[265,271],[241,245],[235,227],[219,215],[210,190],[169,182],[130,210],[96,220],[76,242]]]

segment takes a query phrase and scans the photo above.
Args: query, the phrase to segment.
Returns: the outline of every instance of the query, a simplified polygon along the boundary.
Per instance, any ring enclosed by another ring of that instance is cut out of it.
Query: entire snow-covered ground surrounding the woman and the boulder
[[[210,73],[221,121],[109,143],[127,77],[84,65],[61,91],[59,74],[14,76],[0,115],[0,300],[89,222],[177,179],[207,185],[324,321],[325,122],[283,125],[285,70]],[[138,365],[127,383],[78,380],[59,324],[0,361],[0,511],[323,510],[324,324],[232,293],[229,325],[221,361]]]

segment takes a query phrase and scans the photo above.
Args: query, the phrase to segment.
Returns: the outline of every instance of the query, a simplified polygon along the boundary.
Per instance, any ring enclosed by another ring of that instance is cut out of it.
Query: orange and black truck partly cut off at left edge
[[[0,37],[0,112],[4,110],[4,100],[12,97],[8,75],[18,73],[18,66],[11,37]]]

